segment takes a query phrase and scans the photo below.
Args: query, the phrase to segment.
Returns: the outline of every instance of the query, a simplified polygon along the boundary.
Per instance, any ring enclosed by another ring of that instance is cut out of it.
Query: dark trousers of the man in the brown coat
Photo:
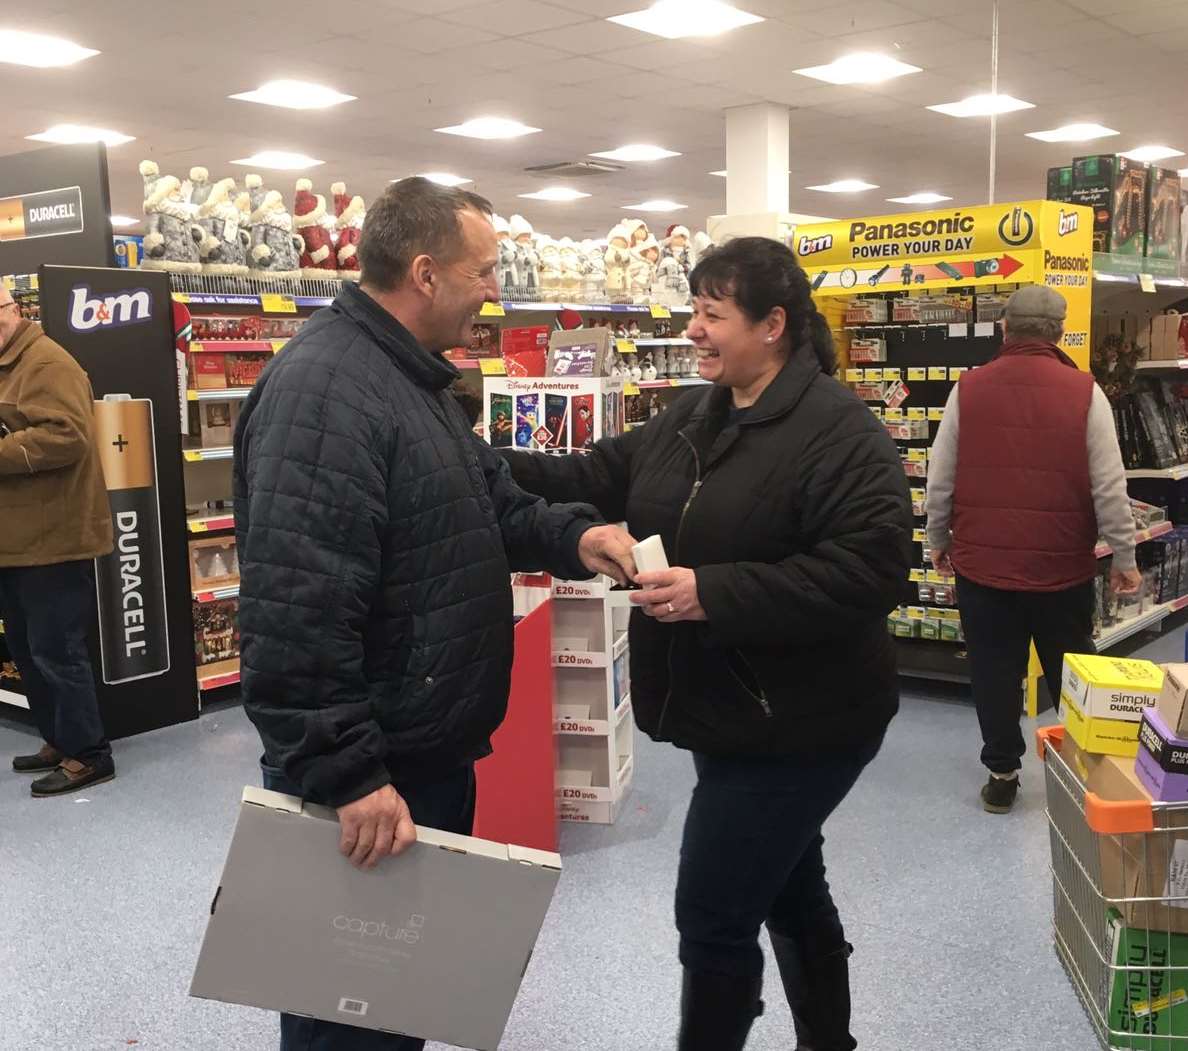
[[[91,562],[0,569],[5,645],[48,745],[93,764],[112,754],[95,695],[87,632],[95,618]]]

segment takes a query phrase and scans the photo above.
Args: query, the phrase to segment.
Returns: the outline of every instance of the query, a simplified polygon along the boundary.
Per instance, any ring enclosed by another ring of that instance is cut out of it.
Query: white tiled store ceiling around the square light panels
[[[538,229],[598,235],[620,207],[650,197],[689,205],[702,226],[726,204],[722,109],[773,101],[791,108],[794,211],[839,217],[902,210],[885,198],[936,190],[985,201],[988,120],[924,107],[990,88],[988,0],[735,0],[767,18],[702,42],[670,42],[605,21],[646,0],[38,0],[7,5],[13,27],[65,36],[102,55],[67,69],[0,64],[0,153],[58,122],[110,127],[137,141],[109,152],[113,210],[139,215],[137,165],[152,157],[184,175],[207,165],[241,178],[232,158],[260,148],[310,153],[318,192],[345,179],[372,197],[391,178],[453,171],[503,214]],[[998,197],[1043,196],[1044,171],[1074,153],[1167,143],[1188,150],[1184,0],[1001,0],[999,90],[1038,108],[999,119]],[[853,50],[924,68],[883,86],[834,87],[792,72]],[[280,77],[359,96],[302,113],[227,95]],[[432,129],[478,115],[517,118],[542,134],[479,143]],[[1121,135],[1047,145],[1024,132],[1099,121]],[[518,201],[539,189],[523,169],[625,143],[684,156],[580,185],[575,204]],[[1188,160],[1171,162],[1184,166]],[[302,172],[261,172],[291,200]],[[802,189],[864,178],[880,189]],[[0,196],[4,188],[0,186]]]

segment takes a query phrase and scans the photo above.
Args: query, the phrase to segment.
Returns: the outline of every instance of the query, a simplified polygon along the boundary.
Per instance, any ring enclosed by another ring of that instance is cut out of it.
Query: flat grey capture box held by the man
[[[244,790],[190,995],[494,1051],[556,854],[432,829],[361,870],[328,808]]]

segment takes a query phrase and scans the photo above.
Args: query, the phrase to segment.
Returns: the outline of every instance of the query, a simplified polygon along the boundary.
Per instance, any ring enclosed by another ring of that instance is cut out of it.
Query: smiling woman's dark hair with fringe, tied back
[[[833,334],[813,303],[809,279],[791,249],[771,238],[733,238],[712,248],[689,274],[694,296],[731,298],[752,322],[783,306],[795,354],[808,344],[821,371],[833,375],[838,355]]]

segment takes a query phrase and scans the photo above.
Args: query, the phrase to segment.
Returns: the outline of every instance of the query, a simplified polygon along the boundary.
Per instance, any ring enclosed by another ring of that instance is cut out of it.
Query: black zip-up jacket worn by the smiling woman
[[[632,614],[642,729],[716,755],[845,752],[898,710],[886,614],[909,566],[903,466],[809,349],[741,423],[729,397],[690,391],[589,456],[505,455],[525,489],[581,494],[696,570],[707,622]]]

